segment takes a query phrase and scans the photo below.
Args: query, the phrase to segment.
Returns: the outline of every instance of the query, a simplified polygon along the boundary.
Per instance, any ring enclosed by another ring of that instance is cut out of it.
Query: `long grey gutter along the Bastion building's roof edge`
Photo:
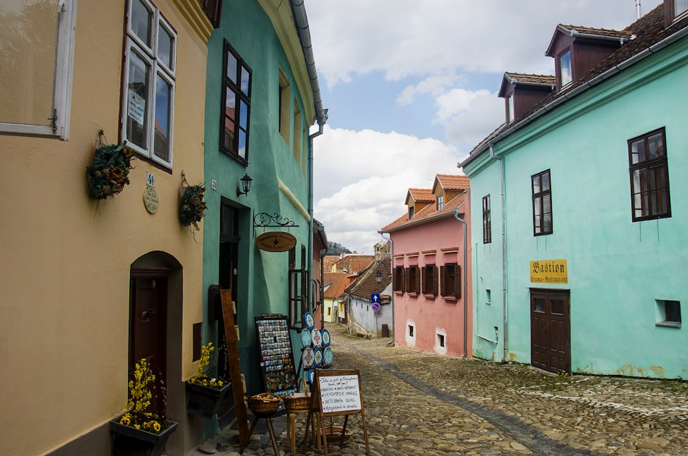
[[[671,36],[667,36],[667,38],[664,38],[662,41],[659,41],[658,43],[654,43],[654,45],[651,45],[647,47],[647,49],[644,49],[641,52],[638,52],[638,54],[635,54],[634,56],[627,58],[623,62],[619,63],[619,65],[614,65],[614,67],[608,69],[604,73],[601,73],[594,78],[584,82],[583,84],[574,87],[571,91],[568,91],[567,93],[564,93],[562,96],[555,98],[555,100],[552,100],[545,106],[541,107],[535,113],[529,114],[525,119],[520,120],[513,126],[510,126],[506,128],[505,130],[500,131],[497,133],[495,136],[491,137],[488,139],[488,141],[485,141],[483,146],[476,150],[475,153],[472,153],[469,155],[467,159],[462,161],[460,163],[460,166],[463,168],[464,166],[468,165],[476,159],[478,156],[482,155],[483,152],[488,150],[490,147],[488,147],[489,144],[495,144],[495,142],[499,141],[500,139],[503,139],[504,137],[510,135],[511,133],[515,132],[515,130],[519,130],[520,128],[523,128],[524,126],[530,124],[530,122],[533,122],[533,120],[537,119],[537,117],[540,117],[543,114],[548,113],[549,111],[552,111],[555,109],[557,106],[562,104],[563,102],[566,102],[567,100],[570,100],[571,98],[574,98],[577,95],[580,95],[583,91],[586,91],[597,84],[600,84],[601,82],[608,80],[612,76],[616,75],[616,73],[619,73],[620,71],[623,71],[623,69],[626,69],[627,67],[630,67],[631,65],[634,65],[636,62],[643,60],[650,54],[654,54],[656,52],[659,52],[661,49],[664,49],[665,47],[671,45],[672,43],[680,40],[680,38],[683,38],[684,36],[688,35],[688,27],[684,27],[675,34]]]

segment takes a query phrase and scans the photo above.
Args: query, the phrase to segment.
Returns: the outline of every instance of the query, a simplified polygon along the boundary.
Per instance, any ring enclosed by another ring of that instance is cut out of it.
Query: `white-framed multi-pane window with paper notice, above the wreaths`
[[[125,38],[122,139],[172,167],[177,34],[148,0],[132,0]]]

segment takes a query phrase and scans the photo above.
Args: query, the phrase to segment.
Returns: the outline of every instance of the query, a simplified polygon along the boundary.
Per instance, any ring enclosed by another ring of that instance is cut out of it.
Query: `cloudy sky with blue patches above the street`
[[[645,14],[660,0],[642,0]],[[621,30],[636,0],[307,0],[329,109],[314,139],[315,218],[327,239],[372,254],[406,212],[504,121],[504,71],[554,74],[557,24]],[[315,128],[316,129],[316,128]],[[313,130],[313,129],[312,129]]]

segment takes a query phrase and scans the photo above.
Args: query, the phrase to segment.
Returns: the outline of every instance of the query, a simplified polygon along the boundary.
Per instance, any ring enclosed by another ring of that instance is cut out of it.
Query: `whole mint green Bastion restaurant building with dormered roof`
[[[505,73],[506,122],[460,163],[473,356],[688,376],[687,8],[666,0],[621,31],[559,25],[555,76]]]

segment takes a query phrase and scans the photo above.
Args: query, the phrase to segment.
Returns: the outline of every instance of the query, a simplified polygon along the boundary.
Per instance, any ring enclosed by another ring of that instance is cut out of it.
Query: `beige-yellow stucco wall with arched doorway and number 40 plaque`
[[[192,238],[177,210],[182,170],[190,181],[203,176],[205,89],[196,82],[205,78],[206,52],[173,1],[156,5],[178,33],[171,174],[133,161],[131,185],[121,194],[100,205],[87,196],[85,167],[98,130],[118,142],[124,1],[78,3],[69,141],[0,136],[6,195],[0,360],[7,393],[0,409],[12,411],[0,418],[0,453],[43,453],[124,409],[129,268],[151,251],[168,253],[184,269],[184,305],[175,310],[181,329],[174,334],[182,345],[178,364],[168,366],[168,382],[193,374],[191,326],[201,315],[203,237],[197,232]],[[160,199],[155,215],[142,200],[147,171],[155,174]],[[179,413],[183,401],[183,395],[170,398],[169,408]]]

